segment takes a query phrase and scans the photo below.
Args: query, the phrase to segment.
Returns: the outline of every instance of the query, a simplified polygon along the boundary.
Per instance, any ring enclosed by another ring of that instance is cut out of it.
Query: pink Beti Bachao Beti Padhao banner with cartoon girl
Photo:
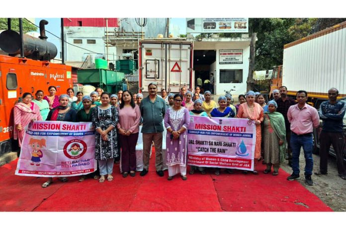
[[[96,170],[91,122],[34,121],[24,134],[16,175],[62,177]]]

